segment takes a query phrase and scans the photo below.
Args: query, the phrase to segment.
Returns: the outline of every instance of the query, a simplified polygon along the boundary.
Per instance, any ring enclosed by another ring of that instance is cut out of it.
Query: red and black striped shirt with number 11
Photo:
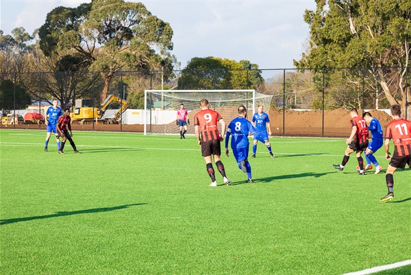
[[[411,154],[411,121],[394,119],[387,125],[385,139],[392,139],[398,156]]]

